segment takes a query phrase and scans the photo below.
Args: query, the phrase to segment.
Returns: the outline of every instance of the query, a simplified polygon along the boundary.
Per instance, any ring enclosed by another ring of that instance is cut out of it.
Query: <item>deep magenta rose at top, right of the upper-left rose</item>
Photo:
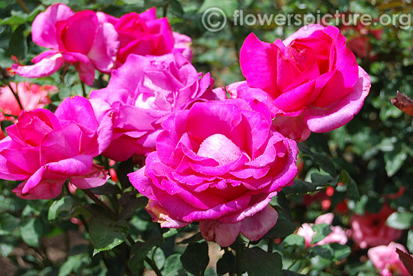
[[[140,14],[129,12],[116,18],[103,12],[97,13],[100,20],[114,25],[120,41],[116,66],[122,65],[130,54],[162,56],[174,48],[191,60],[191,38],[172,32],[168,19],[156,18],[156,8]]]

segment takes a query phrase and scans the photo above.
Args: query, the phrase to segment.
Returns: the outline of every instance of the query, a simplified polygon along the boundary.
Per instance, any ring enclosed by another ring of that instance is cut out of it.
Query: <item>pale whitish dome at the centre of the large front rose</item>
[[[242,152],[233,141],[225,135],[217,133],[211,135],[201,143],[198,155],[200,157],[215,159],[220,165],[226,165],[239,159]]]

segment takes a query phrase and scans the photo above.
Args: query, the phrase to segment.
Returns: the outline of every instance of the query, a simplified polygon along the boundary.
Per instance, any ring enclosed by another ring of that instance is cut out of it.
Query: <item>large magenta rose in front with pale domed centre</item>
[[[271,130],[262,103],[197,102],[162,123],[145,167],[129,174],[162,227],[200,222],[206,240],[259,240],[277,222],[268,203],[297,174],[297,143]]]

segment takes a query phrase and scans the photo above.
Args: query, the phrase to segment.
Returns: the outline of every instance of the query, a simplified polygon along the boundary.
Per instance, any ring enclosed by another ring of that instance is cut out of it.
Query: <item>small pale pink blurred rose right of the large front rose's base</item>
[[[313,240],[313,235],[315,234],[312,228],[313,225],[319,225],[321,223],[326,223],[328,225],[331,225],[333,218],[334,218],[334,214],[327,213],[327,214],[321,215],[318,218],[316,218],[314,224],[304,223],[298,229],[297,235],[301,235],[301,237],[304,237],[307,248],[310,246],[330,244],[332,242],[338,242],[339,244],[346,244],[348,241],[346,232],[339,226],[331,226],[330,227],[331,233],[329,233],[326,236],[326,238],[324,238],[323,240],[320,240],[319,242],[315,244],[311,244],[311,240]]]

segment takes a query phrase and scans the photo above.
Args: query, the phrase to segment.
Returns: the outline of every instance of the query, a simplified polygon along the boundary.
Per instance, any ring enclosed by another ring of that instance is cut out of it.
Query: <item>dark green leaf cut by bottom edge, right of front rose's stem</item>
[[[244,249],[242,252],[242,268],[248,276],[284,276],[282,274],[282,260],[279,253],[268,253],[260,247]]]

